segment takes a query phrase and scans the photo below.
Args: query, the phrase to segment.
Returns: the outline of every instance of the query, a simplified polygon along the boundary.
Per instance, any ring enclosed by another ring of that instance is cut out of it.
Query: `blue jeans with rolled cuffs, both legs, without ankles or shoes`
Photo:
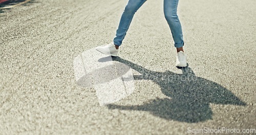
[[[126,5],[121,20],[119,22],[118,29],[116,31],[116,37],[114,38],[114,44],[121,46],[122,41],[126,35],[127,30],[132,22],[135,12],[145,3],[146,0],[129,0]],[[169,25],[170,31],[174,39],[174,46],[180,48],[184,46],[183,34],[179,17],[177,15],[177,7],[179,0],[164,0],[164,16]]]

